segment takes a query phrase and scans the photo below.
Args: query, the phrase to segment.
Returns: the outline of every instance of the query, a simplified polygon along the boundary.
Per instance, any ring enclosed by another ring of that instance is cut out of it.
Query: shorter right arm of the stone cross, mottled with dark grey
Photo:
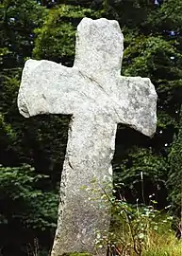
[[[157,126],[157,93],[148,78],[122,77],[118,80],[120,122],[151,137]]]

